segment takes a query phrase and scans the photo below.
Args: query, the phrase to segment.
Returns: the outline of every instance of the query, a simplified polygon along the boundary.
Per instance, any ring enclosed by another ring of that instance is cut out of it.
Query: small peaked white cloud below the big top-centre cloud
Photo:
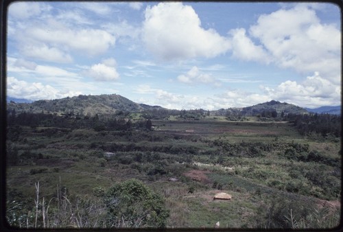
[[[197,83],[213,83],[213,84],[219,84],[215,78],[213,78],[211,75],[207,73],[203,73],[198,69],[198,67],[194,66],[192,67],[187,73],[182,74],[177,77],[178,81],[189,83],[189,84],[197,84]]]

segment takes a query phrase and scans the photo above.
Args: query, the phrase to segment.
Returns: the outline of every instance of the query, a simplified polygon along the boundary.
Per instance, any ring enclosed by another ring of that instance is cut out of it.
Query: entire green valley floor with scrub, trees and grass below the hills
[[[8,223],[21,228],[337,226],[340,117],[263,116],[230,121],[206,111],[111,117],[11,112]],[[217,192],[233,198],[213,200]]]

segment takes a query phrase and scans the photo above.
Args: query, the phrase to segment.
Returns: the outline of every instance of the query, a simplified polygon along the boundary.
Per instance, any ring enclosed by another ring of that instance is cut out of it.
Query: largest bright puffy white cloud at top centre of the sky
[[[230,42],[215,30],[204,30],[198,14],[182,3],[158,3],[145,10],[142,38],[163,60],[212,58],[230,49]]]

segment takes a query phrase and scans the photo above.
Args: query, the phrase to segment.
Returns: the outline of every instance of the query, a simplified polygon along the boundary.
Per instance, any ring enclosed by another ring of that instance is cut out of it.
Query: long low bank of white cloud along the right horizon
[[[260,90],[261,92],[233,89],[212,96],[202,96],[170,93],[162,89],[152,89],[149,85],[141,85],[137,93],[154,95],[153,100],[146,100],[145,103],[176,109],[204,108],[215,110],[252,106],[270,100],[310,108],[341,104],[340,86],[322,78],[318,72],[315,72],[313,76],[307,76],[303,82],[287,80],[273,88],[260,86]]]

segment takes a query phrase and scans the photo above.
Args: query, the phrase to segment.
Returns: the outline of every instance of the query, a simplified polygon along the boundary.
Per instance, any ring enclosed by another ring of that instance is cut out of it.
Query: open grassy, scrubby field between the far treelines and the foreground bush
[[[26,199],[25,210],[33,208],[38,182],[46,199],[63,187],[71,197],[98,200],[95,189],[137,178],[164,196],[169,228],[214,228],[216,222],[220,228],[292,227],[282,223],[294,202],[298,221],[307,209],[330,207],[332,217],[340,211],[340,141],[301,136],[287,122],[253,119],[153,120],[152,126],[22,127],[19,139],[7,144],[19,157],[6,168],[8,202]],[[217,192],[232,200],[213,200]],[[309,216],[304,226],[328,227],[314,226]]]

